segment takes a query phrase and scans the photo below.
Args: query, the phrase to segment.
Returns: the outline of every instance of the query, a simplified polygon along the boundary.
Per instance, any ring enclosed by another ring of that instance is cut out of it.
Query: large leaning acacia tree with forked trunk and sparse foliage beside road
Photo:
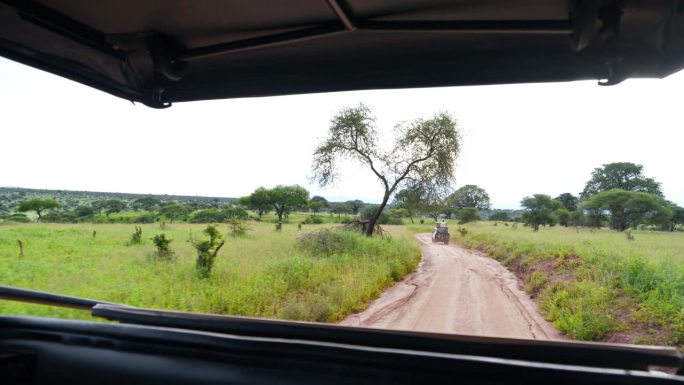
[[[367,167],[384,189],[382,200],[366,235],[373,229],[392,194],[403,185],[445,187],[453,181],[461,136],[456,120],[438,113],[428,120],[417,119],[395,126],[392,148],[379,146],[378,131],[371,110],[361,104],[340,110],[330,122],[328,137],[314,151],[313,177],[321,186],[338,177],[341,159],[354,160]]]

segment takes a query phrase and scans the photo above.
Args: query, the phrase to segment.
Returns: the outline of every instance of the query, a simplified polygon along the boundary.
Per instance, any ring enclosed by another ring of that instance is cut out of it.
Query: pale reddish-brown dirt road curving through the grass
[[[497,261],[420,234],[418,270],[342,325],[531,339],[561,339]]]

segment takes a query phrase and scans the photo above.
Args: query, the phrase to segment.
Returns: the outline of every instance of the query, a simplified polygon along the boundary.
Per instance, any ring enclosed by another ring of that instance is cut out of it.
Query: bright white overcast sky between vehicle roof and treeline
[[[463,132],[456,186],[496,208],[534,193],[577,194],[605,163],[643,164],[684,205],[684,72],[664,80],[359,91],[177,103],[154,110],[0,59],[0,186],[239,197],[300,184],[329,200],[377,202],[370,171],[308,182],[330,118],[363,102],[381,134],[448,111]]]

